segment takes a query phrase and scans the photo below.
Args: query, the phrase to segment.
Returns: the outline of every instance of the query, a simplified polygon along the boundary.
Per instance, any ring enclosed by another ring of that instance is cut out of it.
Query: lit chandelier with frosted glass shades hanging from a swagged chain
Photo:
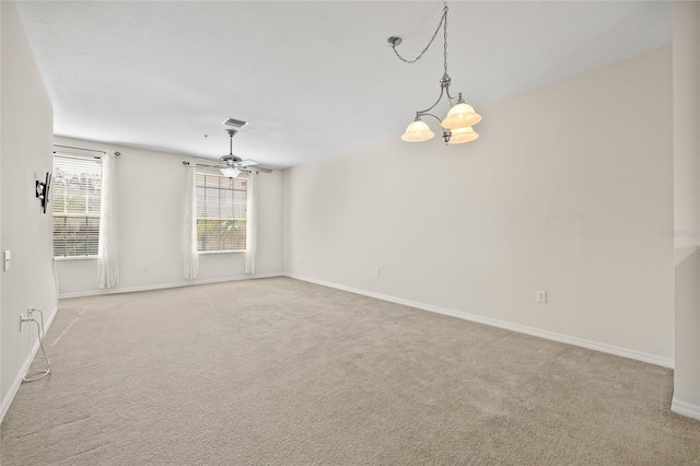
[[[477,123],[481,121],[481,116],[477,114],[471,105],[468,105],[464,98],[462,97],[462,93],[457,94],[457,97],[453,97],[450,94],[450,84],[452,79],[450,79],[450,74],[447,74],[447,2],[444,3],[442,18],[440,19],[440,23],[438,24],[438,28],[433,33],[432,38],[423,48],[418,57],[413,60],[407,60],[401,57],[396,50],[396,47],[401,43],[401,38],[398,36],[392,36],[386,39],[386,44],[392,47],[394,54],[406,63],[415,63],[420,60],[428,51],[433,40],[438,36],[440,28],[443,28],[443,65],[444,65],[444,73],[442,79],[440,80],[440,96],[438,101],[430,107],[424,110],[416,112],[416,118],[413,121],[408,125],[404,135],[401,135],[401,140],[407,142],[423,142],[435,137],[435,133],[430,129],[430,127],[421,119],[423,116],[430,116],[440,121],[440,126],[442,129],[442,139],[445,141],[445,144],[460,144],[464,142],[474,141],[479,137],[479,135],[471,128]],[[435,115],[431,113],[433,108],[442,101],[442,97],[446,96],[447,102],[450,103],[450,112],[447,112],[447,116],[442,120],[438,118]]]

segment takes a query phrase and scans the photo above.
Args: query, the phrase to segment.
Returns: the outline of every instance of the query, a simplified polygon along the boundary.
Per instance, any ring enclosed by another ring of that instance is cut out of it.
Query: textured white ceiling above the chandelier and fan
[[[291,166],[387,136],[438,97],[442,2],[19,3],[55,132]],[[670,2],[452,2],[453,93],[475,107],[670,43]],[[446,113],[445,108],[436,110]],[[205,138],[203,135],[209,135]]]

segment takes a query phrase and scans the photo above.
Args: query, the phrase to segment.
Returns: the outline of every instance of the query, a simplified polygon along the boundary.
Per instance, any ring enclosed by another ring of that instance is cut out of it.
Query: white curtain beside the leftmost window
[[[102,289],[119,284],[116,159],[114,153],[106,153],[102,160],[102,199],[97,243],[97,286]]]

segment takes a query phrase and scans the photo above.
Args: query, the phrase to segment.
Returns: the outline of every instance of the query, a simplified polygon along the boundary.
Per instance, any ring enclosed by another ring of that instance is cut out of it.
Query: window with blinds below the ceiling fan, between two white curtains
[[[245,251],[246,178],[197,173],[197,251]]]

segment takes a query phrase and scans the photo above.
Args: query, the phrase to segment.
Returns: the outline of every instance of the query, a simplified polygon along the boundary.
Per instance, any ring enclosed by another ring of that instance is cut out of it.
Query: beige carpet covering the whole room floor
[[[65,300],[49,348],[2,466],[700,464],[669,370],[289,278]]]

